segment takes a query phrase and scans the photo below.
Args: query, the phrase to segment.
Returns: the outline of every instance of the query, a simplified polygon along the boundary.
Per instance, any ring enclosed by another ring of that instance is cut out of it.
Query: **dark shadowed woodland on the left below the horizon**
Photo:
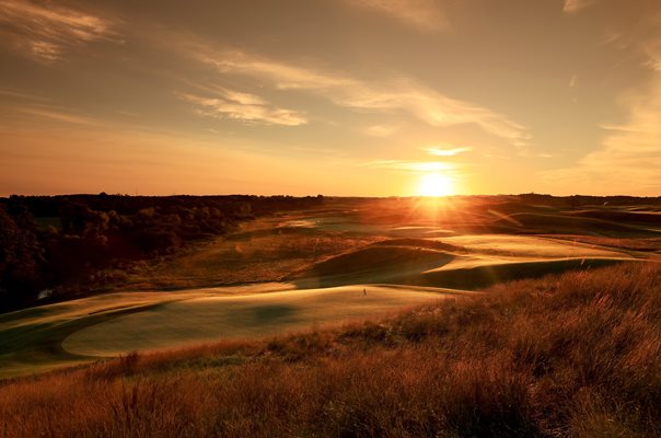
[[[100,269],[167,255],[241,221],[322,201],[321,195],[0,198],[0,312],[31,306],[39,293],[67,298],[76,293],[72,280]]]

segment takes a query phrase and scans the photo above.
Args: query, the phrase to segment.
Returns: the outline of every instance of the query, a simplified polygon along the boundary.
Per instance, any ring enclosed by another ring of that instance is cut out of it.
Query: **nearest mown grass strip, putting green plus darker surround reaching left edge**
[[[0,316],[0,378],[137,349],[272,336],[471,293],[374,285],[283,288],[291,285],[108,293],[7,313]]]

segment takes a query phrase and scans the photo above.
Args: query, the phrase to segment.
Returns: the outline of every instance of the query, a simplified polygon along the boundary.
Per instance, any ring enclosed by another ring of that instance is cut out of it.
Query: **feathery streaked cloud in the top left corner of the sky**
[[[79,44],[116,36],[109,21],[55,2],[0,0],[0,35],[43,61],[55,61]]]

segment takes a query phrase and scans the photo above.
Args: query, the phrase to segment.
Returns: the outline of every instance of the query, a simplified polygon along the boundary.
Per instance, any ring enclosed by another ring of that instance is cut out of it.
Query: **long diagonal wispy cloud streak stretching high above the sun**
[[[447,96],[414,80],[360,80],[348,74],[267,59],[240,50],[197,45],[198,60],[221,74],[251,77],[278,90],[300,90],[357,112],[406,113],[431,126],[476,124],[485,131],[524,149],[527,129],[489,108]]]

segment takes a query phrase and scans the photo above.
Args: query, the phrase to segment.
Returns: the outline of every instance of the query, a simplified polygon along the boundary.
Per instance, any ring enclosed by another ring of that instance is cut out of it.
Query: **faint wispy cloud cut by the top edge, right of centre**
[[[449,31],[443,10],[434,0],[343,0],[346,4],[384,14],[420,31]]]

